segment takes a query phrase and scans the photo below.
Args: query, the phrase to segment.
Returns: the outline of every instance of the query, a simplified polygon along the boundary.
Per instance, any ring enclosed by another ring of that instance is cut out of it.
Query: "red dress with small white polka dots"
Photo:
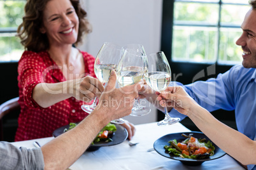
[[[96,77],[94,74],[95,58],[89,53],[80,52],[85,62],[85,75],[89,74],[92,77]],[[48,108],[40,107],[32,99],[32,90],[36,84],[62,81],[66,81],[66,78],[46,51],[39,53],[25,51],[23,53],[18,62],[20,96],[18,102],[20,103],[21,112],[18,117],[15,141],[52,136],[55,129],[69,124],[69,122],[82,121],[88,115],[81,108],[81,105],[85,104],[85,102],[78,101],[73,97],[60,101]]]

